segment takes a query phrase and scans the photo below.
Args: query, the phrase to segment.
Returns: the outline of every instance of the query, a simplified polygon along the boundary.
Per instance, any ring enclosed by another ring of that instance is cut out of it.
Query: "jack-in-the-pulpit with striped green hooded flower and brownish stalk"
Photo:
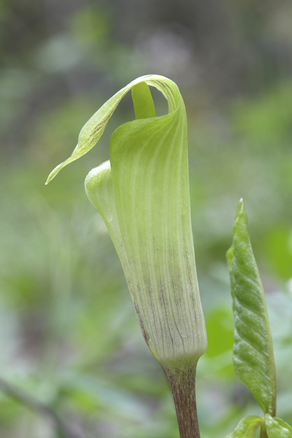
[[[167,99],[165,116],[155,116],[148,86]],[[191,231],[187,118],[176,84],[146,75],[122,88],[88,120],[47,183],[92,149],[129,90],[136,119],[114,131],[109,161],[91,170],[85,190],[120,257],[144,339],[168,375],[181,438],[198,438],[195,376],[207,335]]]

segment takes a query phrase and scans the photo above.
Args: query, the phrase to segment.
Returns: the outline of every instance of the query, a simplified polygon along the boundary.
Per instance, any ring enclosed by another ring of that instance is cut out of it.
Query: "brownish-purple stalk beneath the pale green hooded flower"
[[[196,365],[188,370],[166,370],[181,438],[200,438],[196,405]]]

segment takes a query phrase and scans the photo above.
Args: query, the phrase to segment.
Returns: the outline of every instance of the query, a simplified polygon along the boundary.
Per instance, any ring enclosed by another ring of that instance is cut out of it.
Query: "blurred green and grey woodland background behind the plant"
[[[232,367],[225,254],[241,197],[267,296],[278,415],[292,423],[291,0],[1,0],[0,23],[1,438],[178,438],[165,374],[83,190],[113,129],[134,117],[130,96],[98,146],[44,186],[93,112],[147,73],[176,81],[187,107],[209,336],[197,376],[202,438],[224,438],[260,412]]]

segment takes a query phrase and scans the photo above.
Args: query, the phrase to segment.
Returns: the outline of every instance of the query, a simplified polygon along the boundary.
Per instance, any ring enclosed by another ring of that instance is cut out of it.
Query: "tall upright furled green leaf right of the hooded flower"
[[[235,372],[265,413],[275,415],[276,376],[263,286],[248,235],[248,222],[239,202],[233,244],[227,253],[233,296]]]

